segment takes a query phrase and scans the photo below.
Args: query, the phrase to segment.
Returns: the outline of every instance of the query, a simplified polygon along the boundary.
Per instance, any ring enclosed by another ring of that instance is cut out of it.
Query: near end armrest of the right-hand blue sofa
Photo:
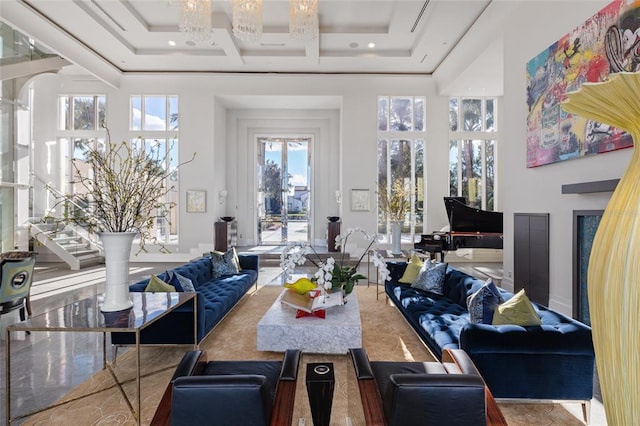
[[[593,397],[591,329],[577,321],[531,327],[466,324],[460,349],[496,398]]]

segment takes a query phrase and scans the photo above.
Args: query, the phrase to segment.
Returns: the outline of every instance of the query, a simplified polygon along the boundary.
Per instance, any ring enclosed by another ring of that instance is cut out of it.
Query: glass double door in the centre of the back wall
[[[310,238],[309,138],[258,138],[258,242]]]

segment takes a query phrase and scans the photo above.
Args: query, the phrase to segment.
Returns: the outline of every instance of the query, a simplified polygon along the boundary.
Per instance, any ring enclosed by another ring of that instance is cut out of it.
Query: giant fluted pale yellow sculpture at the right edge
[[[640,74],[609,75],[568,93],[562,107],[633,136],[631,162],[593,240],[587,290],[607,423],[640,424]]]

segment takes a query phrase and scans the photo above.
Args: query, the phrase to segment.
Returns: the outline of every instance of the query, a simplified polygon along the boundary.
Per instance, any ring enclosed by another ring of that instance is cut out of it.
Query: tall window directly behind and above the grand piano
[[[495,210],[496,98],[449,99],[449,195]]]

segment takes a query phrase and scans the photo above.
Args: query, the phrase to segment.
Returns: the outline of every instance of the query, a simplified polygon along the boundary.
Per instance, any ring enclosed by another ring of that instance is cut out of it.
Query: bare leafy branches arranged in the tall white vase
[[[164,201],[174,189],[167,186],[168,178],[193,161],[195,153],[168,169],[166,151],[150,148],[150,143],[140,139],[113,144],[107,129],[106,149],[87,145],[85,158],[72,161],[76,176],[72,183],[81,190],[59,197],[54,206],[63,207],[62,220],[85,226],[89,232],[137,232],[140,250],[146,251],[145,243],[151,241],[168,251],[151,230],[158,218],[168,220],[175,205]],[[51,215],[45,220],[51,220]]]

